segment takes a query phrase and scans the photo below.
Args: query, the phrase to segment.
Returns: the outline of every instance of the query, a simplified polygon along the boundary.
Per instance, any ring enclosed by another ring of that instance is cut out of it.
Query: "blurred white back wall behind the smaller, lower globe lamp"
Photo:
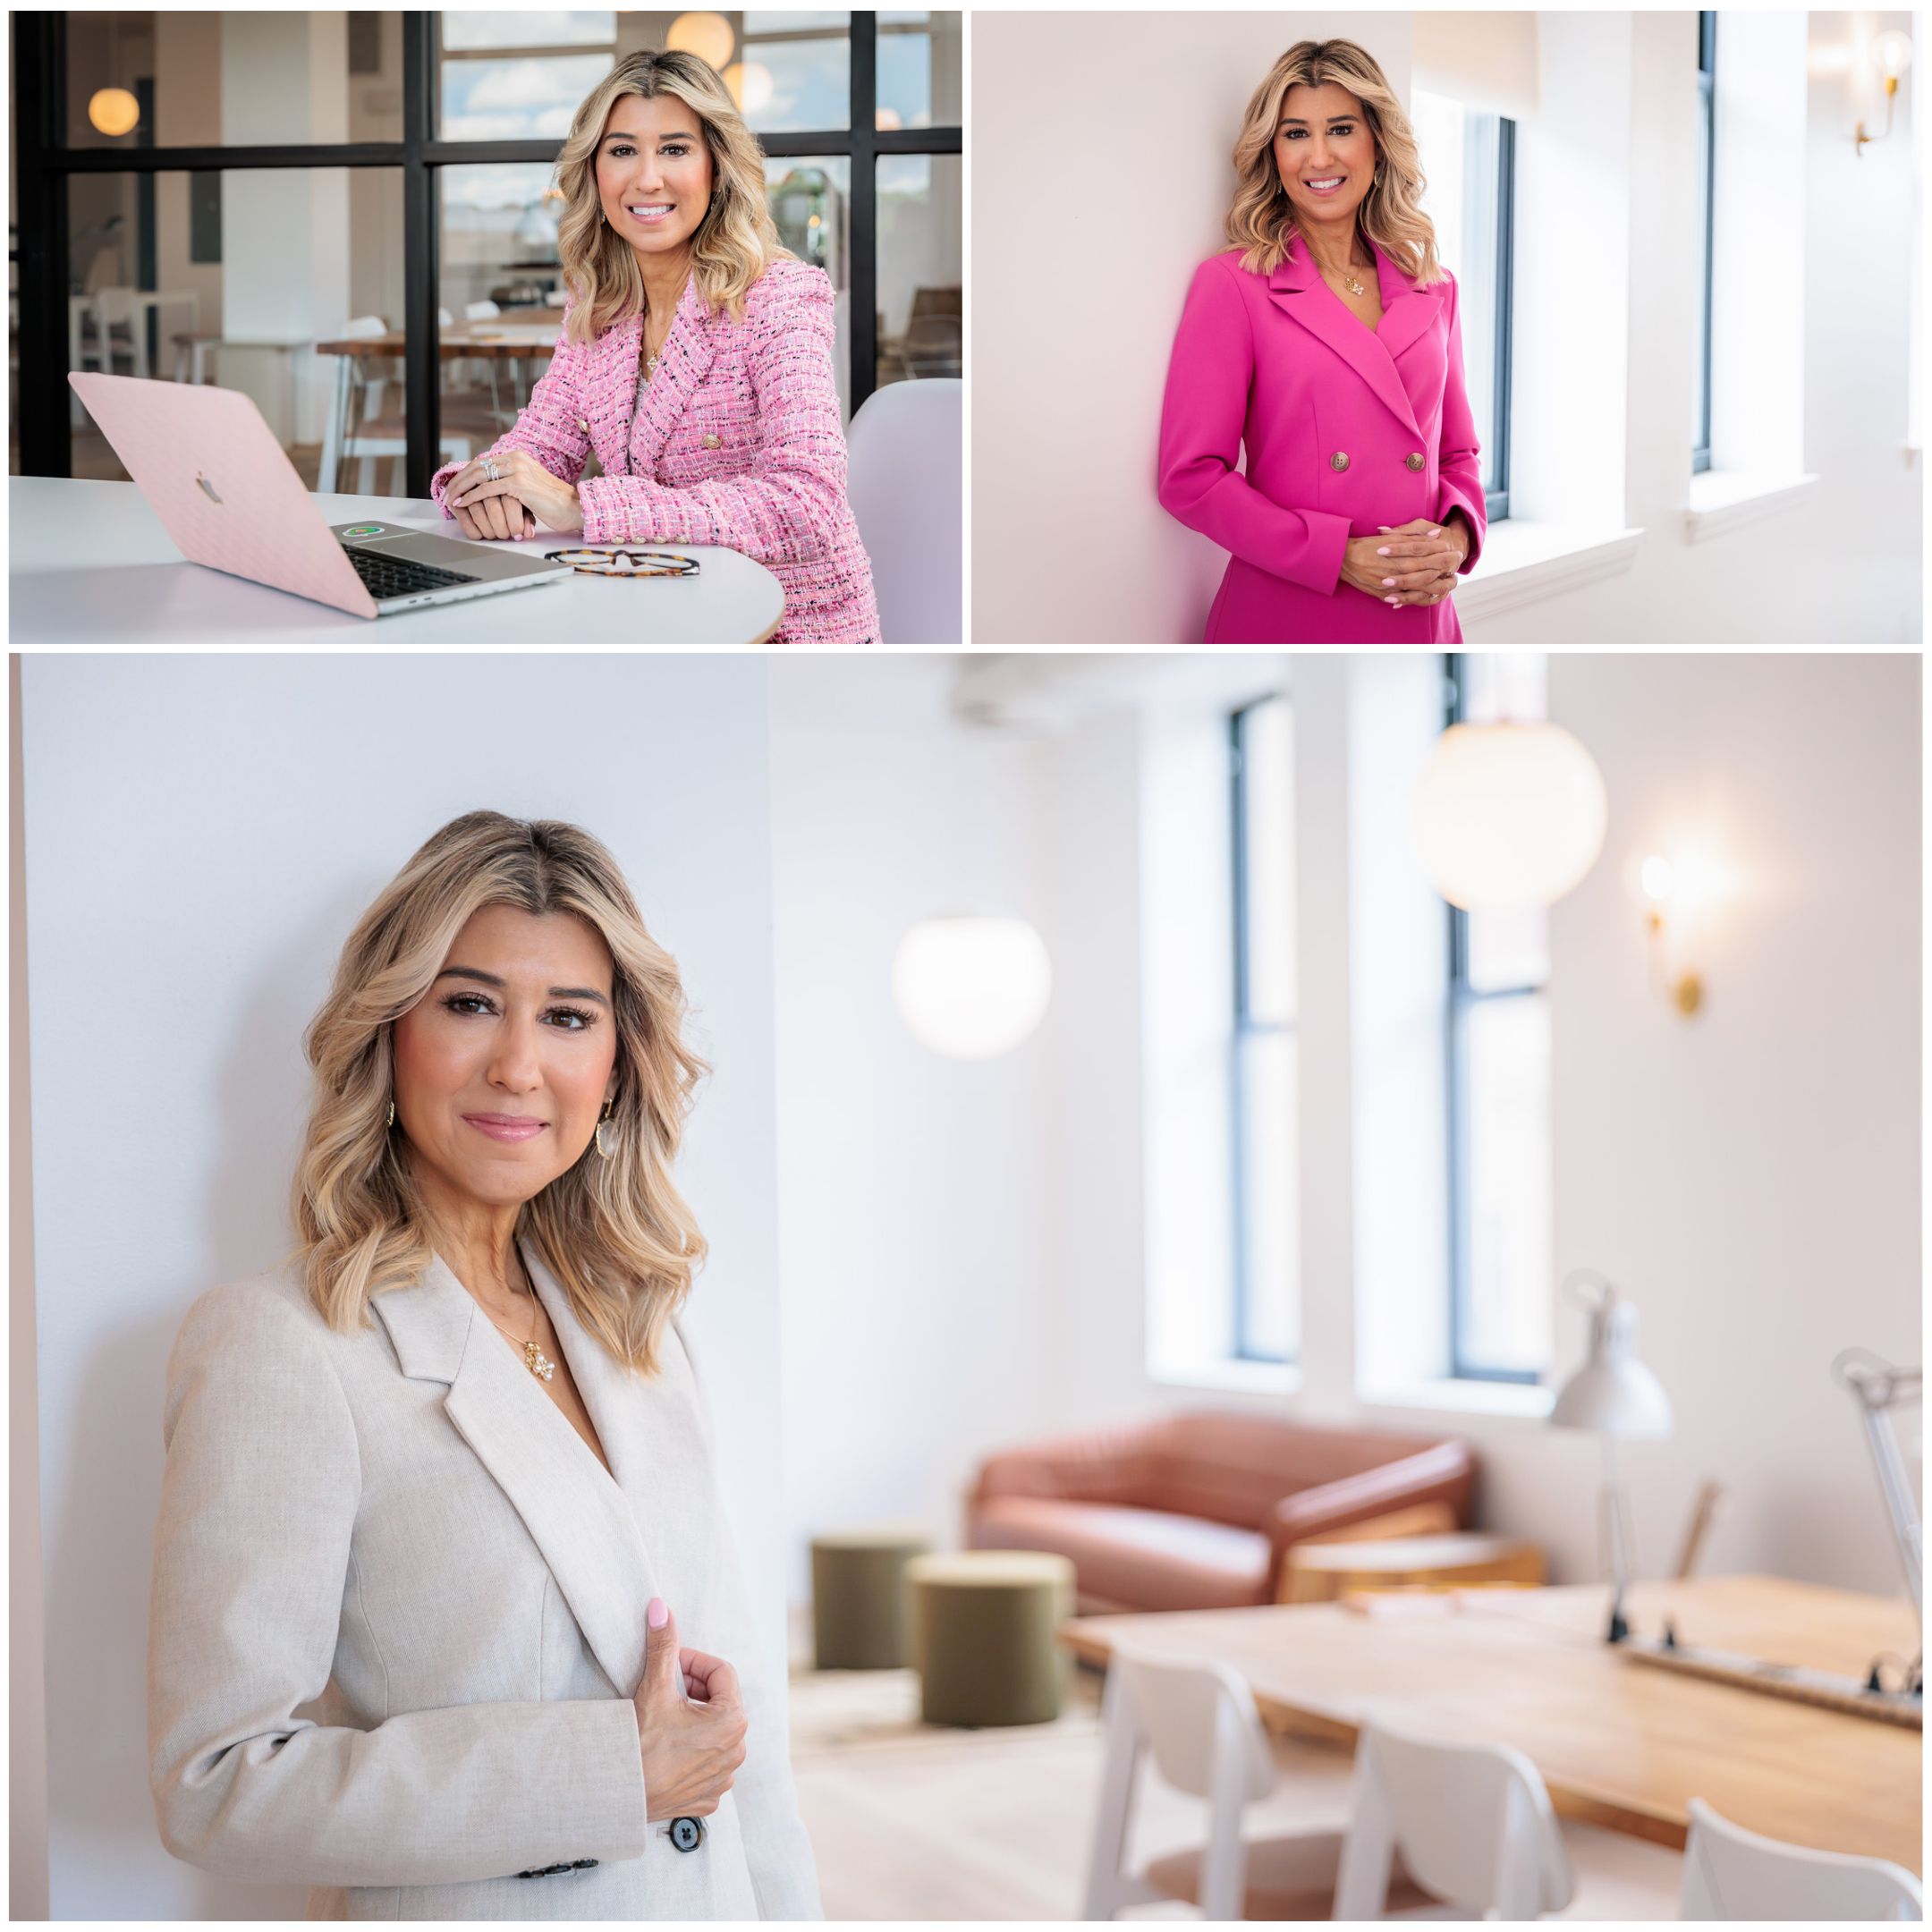
[[[1034,1041],[945,1061],[900,1024],[893,949],[943,912],[1047,925],[1041,748],[962,730],[943,657],[771,665],[784,1520],[954,1546],[980,1443],[1051,1406],[1057,1349]],[[1053,945],[1053,933],[1047,931]]]

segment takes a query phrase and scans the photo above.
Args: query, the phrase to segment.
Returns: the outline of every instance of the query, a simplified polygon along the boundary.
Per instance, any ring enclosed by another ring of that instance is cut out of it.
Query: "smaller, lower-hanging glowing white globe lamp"
[[[949,1061],[1010,1053],[1039,1024],[1053,966],[1026,920],[920,920],[893,954],[893,1005]]]

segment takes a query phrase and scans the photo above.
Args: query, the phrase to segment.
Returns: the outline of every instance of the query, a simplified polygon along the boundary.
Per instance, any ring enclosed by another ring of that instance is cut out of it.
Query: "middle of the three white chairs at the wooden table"
[[[1383,1917],[1395,1859],[1424,1891],[1478,1918],[1540,1918],[1575,1893],[1536,1766],[1509,1745],[1459,1745],[1362,1725],[1337,1918]]]

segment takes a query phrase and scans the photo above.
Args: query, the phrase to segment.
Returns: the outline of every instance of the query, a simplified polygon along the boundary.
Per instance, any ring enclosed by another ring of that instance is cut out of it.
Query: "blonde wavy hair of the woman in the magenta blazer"
[[[1296,41],[1267,70],[1254,91],[1240,139],[1235,143],[1235,199],[1227,211],[1227,238],[1242,251],[1240,265],[1254,274],[1273,274],[1296,236],[1294,205],[1275,166],[1275,128],[1291,87],[1323,87],[1335,81],[1362,102],[1362,116],[1376,141],[1378,182],[1356,209],[1356,224],[1370,242],[1387,249],[1414,282],[1441,282],[1435,259],[1435,224],[1422,213],[1422,156],[1403,102],[1395,99],[1376,56],[1354,41]]]

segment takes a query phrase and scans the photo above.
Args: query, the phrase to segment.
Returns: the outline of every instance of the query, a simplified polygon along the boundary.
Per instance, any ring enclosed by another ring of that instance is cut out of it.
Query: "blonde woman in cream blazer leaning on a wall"
[[[168,1362],[174,1857],[311,1918],[817,1917],[676,1325],[682,1024],[572,825],[456,819],[350,935],[296,1256]]]

